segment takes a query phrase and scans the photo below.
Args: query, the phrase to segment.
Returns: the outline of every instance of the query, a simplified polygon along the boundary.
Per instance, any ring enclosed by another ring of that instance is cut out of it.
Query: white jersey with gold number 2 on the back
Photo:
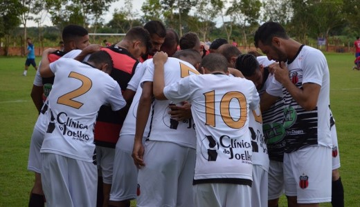
[[[126,105],[120,86],[101,70],[73,59],[50,64],[55,74],[48,96],[48,128],[42,150],[72,159],[93,161],[93,126],[100,106]]]

